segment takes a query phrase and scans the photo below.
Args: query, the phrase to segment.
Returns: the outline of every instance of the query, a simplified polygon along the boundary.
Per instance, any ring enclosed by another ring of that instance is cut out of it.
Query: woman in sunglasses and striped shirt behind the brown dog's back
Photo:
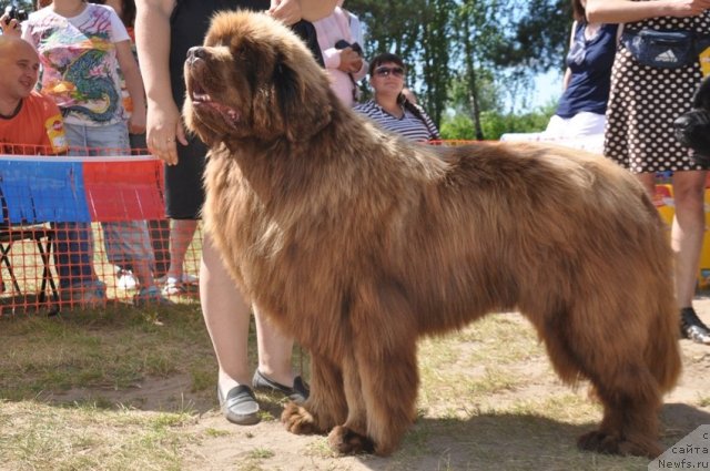
[[[375,121],[381,127],[413,141],[437,141],[439,131],[422,106],[402,93],[405,66],[396,54],[384,53],[369,63],[373,100],[355,106],[355,111]]]

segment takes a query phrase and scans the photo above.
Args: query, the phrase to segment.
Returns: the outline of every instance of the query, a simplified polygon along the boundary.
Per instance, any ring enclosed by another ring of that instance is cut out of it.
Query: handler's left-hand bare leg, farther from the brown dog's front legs
[[[247,357],[251,313],[207,234],[202,240],[200,304],[220,367],[220,389],[226,397],[235,386],[251,385]]]

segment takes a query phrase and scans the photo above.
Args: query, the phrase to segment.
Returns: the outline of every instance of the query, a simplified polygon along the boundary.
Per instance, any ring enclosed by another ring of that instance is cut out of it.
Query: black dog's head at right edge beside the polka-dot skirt
[[[676,139],[694,151],[693,160],[710,165],[710,76],[706,78],[692,99],[692,110],[673,122]]]

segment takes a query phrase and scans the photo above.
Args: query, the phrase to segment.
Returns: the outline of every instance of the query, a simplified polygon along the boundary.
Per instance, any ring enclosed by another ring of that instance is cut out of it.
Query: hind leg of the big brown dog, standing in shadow
[[[661,452],[657,442],[661,398],[658,381],[643,359],[643,342],[651,340],[629,335],[623,322],[609,317],[623,315],[616,313],[621,310],[551,316],[542,328],[546,347],[562,380],[588,378],[604,405],[599,430],[580,437],[579,448],[655,458]],[[590,320],[595,318],[596,324]]]

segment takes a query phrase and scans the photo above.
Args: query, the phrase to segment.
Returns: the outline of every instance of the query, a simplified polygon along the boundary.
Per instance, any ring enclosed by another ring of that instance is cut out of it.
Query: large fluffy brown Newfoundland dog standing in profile
[[[517,309],[604,403],[585,450],[655,457],[680,371],[671,253],[637,180],[582,152],[415,144],[343,106],[265,14],[217,14],[185,62],[211,147],[206,229],[261,313],[308,349],[282,416],[386,455],[415,417],[417,339]]]

